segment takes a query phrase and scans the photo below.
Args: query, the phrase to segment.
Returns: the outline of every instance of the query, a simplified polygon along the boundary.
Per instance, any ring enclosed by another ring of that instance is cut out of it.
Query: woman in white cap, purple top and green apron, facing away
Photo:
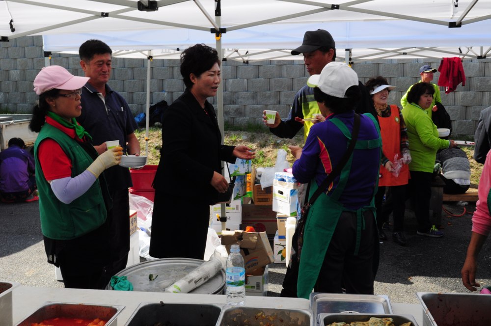
[[[355,125],[359,126],[359,133],[355,149],[339,176],[302,217],[306,220],[303,241],[299,239],[303,245],[295,295],[308,299],[312,289],[373,294],[379,266],[373,197],[379,180],[382,146],[377,121],[371,114],[355,114],[361,94],[358,76],[347,65],[330,62],[320,75],[311,76],[308,84],[314,89],[314,98],[326,121],[310,128],[303,149],[290,146],[296,159],[293,175],[300,183],[310,183],[307,198],[341,161],[356,133]],[[301,234],[300,231],[296,233]],[[293,270],[288,269],[289,272]]]

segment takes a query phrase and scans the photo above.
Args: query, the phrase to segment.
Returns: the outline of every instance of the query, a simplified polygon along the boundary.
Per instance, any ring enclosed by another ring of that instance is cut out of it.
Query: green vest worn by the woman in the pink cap
[[[82,196],[70,204],[59,201],[46,181],[38,159],[39,144],[46,138],[55,140],[72,162],[72,178],[85,171],[94,160],[77,140],[47,123],[41,128],[34,143],[39,215],[43,235],[54,240],[75,239],[97,229],[106,221],[107,211],[101,185],[97,179]]]

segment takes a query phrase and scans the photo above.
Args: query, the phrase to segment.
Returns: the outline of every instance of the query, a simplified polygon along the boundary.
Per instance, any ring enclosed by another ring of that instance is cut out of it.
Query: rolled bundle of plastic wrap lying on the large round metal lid
[[[219,245],[210,260],[204,262],[188,275],[180,280],[175,281],[167,287],[164,292],[167,293],[189,293],[191,290],[206,283],[210,278],[215,276],[225,267],[228,253],[224,245]]]

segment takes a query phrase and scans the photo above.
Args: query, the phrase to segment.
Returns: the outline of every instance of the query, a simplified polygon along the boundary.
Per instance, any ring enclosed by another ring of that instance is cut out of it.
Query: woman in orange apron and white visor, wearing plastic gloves
[[[382,226],[384,222],[388,221],[390,213],[393,213],[392,239],[398,245],[407,245],[404,235],[404,212],[406,187],[409,180],[408,164],[411,162],[408,129],[404,123],[401,109],[396,105],[387,104],[389,92],[395,86],[389,85],[385,78],[378,76],[370,78],[365,83],[365,87],[370,92],[373,105],[379,115],[382,134],[379,190],[375,195],[379,238],[380,240],[387,240]],[[383,202],[385,190],[387,190],[387,200]]]

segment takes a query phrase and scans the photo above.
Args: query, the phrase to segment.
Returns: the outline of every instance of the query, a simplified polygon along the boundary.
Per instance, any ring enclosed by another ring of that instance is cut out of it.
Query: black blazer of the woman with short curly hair
[[[168,195],[209,201],[218,194],[210,185],[213,172],[221,173],[220,161],[235,163],[233,150],[234,146],[221,144],[213,106],[206,101],[201,108],[187,89],[164,112],[153,187]]]

